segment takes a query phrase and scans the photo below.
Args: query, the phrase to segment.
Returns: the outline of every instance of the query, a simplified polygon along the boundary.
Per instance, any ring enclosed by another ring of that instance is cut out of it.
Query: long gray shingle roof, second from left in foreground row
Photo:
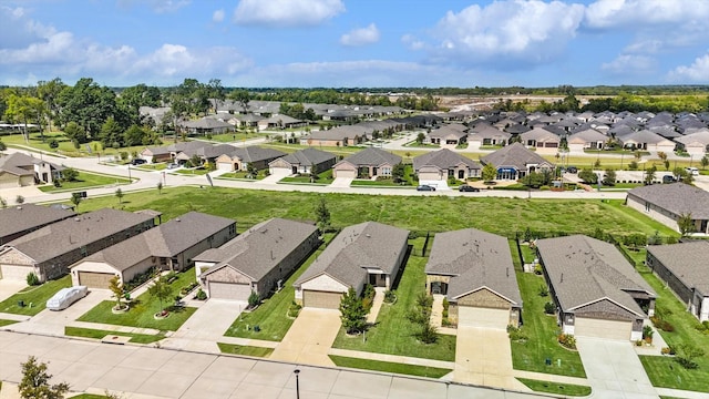
[[[152,219],[151,215],[103,208],[44,226],[8,246],[42,263]]]

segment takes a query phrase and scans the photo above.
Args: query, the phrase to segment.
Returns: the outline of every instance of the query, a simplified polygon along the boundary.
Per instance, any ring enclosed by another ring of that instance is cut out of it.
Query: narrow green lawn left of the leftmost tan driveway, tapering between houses
[[[326,242],[332,236],[326,236]],[[286,280],[284,288],[266,299],[256,310],[243,313],[224,334],[227,337],[256,338],[265,340],[280,341],[292,325],[292,319],[286,314],[295,298],[292,284],[310,266],[310,264],[322,253],[325,245],[314,252],[306,262]],[[248,328],[247,328],[248,326]],[[260,331],[254,331],[254,326],[258,326]]]

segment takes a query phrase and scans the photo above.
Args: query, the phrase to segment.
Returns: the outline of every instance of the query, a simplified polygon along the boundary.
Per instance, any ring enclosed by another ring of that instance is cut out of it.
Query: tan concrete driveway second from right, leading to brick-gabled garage
[[[459,327],[453,381],[528,390],[513,376],[512,348],[503,329]]]

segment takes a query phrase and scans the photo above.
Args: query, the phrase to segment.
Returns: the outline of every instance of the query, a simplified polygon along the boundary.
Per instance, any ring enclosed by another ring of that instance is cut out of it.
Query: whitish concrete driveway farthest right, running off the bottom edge
[[[576,337],[594,398],[657,399],[630,341]]]

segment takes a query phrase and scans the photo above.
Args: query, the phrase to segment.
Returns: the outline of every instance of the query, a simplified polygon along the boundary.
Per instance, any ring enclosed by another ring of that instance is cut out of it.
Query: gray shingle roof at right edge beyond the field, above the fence
[[[635,187],[628,192],[628,198],[646,201],[678,216],[691,214],[695,219],[709,218],[709,193],[684,183]]]

